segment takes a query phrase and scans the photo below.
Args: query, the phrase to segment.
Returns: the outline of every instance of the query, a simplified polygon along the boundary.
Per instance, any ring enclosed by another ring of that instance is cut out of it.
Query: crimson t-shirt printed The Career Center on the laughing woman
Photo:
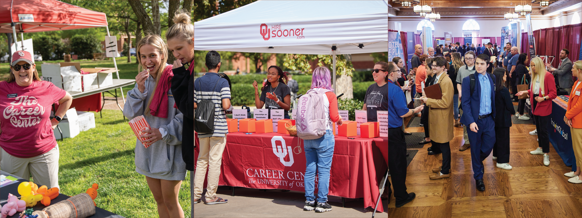
[[[33,158],[56,146],[52,132],[52,104],[66,91],[49,81],[33,81],[27,87],[0,82],[0,146],[17,158]]]

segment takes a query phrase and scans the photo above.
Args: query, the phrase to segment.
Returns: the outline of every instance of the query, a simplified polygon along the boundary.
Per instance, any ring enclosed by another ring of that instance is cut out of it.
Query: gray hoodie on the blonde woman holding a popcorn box
[[[168,118],[144,114],[144,108],[155,90],[155,80],[149,77],[145,81],[145,93],[137,88],[127,92],[123,107],[123,115],[128,119],[143,115],[151,128],[159,128],[162,140],[154,142],[148,148],[136,138],[135,163],[137,173],[162,180],[184,180],[186,178],[186,163],[182,160],[182,124],[180,110],[174,108],[172,91],[168,90]],[[149,94],[148,94],[149,93]],[[145,96],[144,96],[145,95]]]

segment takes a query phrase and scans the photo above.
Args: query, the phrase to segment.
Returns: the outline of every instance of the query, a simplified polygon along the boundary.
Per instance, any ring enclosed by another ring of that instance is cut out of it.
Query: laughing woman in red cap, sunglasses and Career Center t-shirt
[[[53,130],[73,98],[69,92],[38,77],[33,56],[16,51],[8,80],[0,82],[0,165],[6,173],[34,183],[59,187],[59,146]],[[58,103],[56,116],[51,106]]]

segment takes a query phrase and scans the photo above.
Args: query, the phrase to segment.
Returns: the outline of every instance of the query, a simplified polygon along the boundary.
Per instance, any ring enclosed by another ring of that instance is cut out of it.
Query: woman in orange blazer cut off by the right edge
[[[572,76],[582,76],[582,60],[577,60],[572,66]],[[570,99],[568,100],[568,110],[564,121],[570,127],[572,134],[572,148],[574,149],[574,156],[576,156],[576,171],[565,173],[564,176],[572,177],[568,181],[570,183],[582,183],[580,180],[580,166],[582,166],[582,99],[580,99],[580,92],[582,92],[582,81],[580,79],[574,82]]]

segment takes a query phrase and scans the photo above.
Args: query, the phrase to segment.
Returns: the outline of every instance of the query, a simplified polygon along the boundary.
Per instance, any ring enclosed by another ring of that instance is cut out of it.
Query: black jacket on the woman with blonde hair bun
[[[186,170],[194,171],[194,75],[184,66],[172,69],[172,73],[172,94],[178,110],[184,115],[182,159]]]

